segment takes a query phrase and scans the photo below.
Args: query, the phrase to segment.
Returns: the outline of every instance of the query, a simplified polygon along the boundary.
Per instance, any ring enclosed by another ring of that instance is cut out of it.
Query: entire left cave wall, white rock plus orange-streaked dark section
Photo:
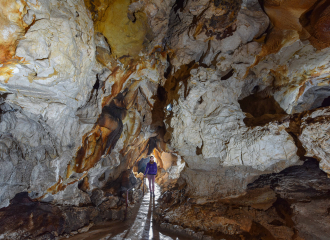
[[[3,42],[15,51],[8,48],[0,71],[1,207],[22,191],[41,201],[87,204],[79,181],[88,179],[89,191],[102,187],[101,175],[113,176],[121,162],[123,170],[131,168],[148,153],[149,138],[157,135],[152,97],[166,57],[154,44],[142,58],[116,60],[126,53],[113,54],[93,19],[96,10],[84,1],[3,4],[13,8],[3,15]]]

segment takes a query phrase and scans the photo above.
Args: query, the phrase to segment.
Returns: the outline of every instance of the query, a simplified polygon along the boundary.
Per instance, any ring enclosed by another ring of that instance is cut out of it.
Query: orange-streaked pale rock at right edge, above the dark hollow
[[[287,113],[312,110],[330,95],[329,51],[317,51],[308,42],[298,40],[268,55],[251,70],[263,84],[275,87],[274,98]]]

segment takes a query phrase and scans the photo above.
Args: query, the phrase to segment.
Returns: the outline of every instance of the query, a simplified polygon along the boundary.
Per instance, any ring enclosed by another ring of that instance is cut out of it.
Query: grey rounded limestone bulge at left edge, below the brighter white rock
[[[29,189],[33,197],[56,183],[51,162],[58,156],[55,136],[40,117],[17,105],[1,104],[0,207]]]

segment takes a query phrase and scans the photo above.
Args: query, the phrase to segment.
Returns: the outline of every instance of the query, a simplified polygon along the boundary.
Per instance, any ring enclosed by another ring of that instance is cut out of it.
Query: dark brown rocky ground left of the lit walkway
[[[4,239],[60,239],[84,233],[94,224],[129,219],[142,195],[142,181],[129,171],[106,190],[94,190],[91,202],[79,206],[39,202],[27,192],[18,193],[8,207],[0,210],[0,234]]]

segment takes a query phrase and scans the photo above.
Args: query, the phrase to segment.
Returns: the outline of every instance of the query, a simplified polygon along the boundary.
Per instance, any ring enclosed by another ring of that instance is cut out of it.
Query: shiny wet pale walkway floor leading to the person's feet
[[[145,180],[148,186],[148,181]],[[149,186],[148,186],[149,187]],[[153,220],[153,213],[160,197],[160,187],[155,184],[155,197],[148,190],[142,201],[133,209],[133,216],[126,221],[108,221],[94,225],[88,232],[69,238],[70,240],[191,240],[188,235],[161,229]]]

